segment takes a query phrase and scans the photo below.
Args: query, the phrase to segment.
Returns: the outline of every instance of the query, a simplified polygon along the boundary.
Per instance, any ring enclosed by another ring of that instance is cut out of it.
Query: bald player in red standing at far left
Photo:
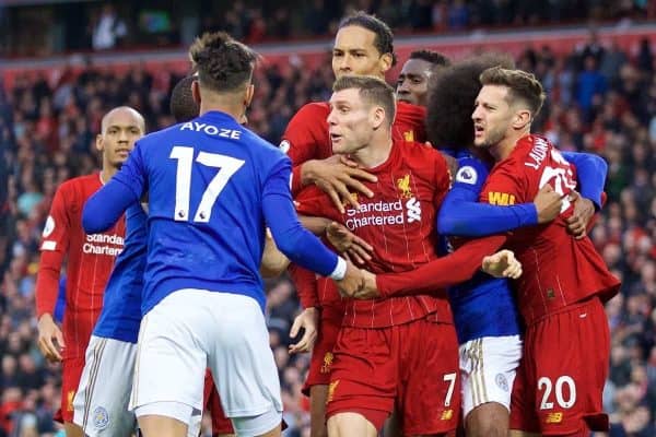
[[[105,233],[86,235],[81,224],[82,206],[118,172],[144,132],[143,117],[137,110],[121,106],[107,113],[96,138],[96,147],[103,154],[102,170],[67,180],[57,189],[43,232],[36,280],[38,346],[46,358],[62,363],[61,418],[67,436],[83,436],[72,423],[72,401],[86,345],[103,308],[103,292],[125,237],[122,220]],[[65,258],[67,302],[60,330],[52,312]]]

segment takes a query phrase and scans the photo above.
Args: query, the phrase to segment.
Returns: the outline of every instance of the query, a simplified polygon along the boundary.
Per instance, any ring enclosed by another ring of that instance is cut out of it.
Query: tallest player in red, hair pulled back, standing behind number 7
[[[385,73],[395,63],[394,34],[387,24],[362,12],[342,20],[332,48],[332,71],[336,78],[359,74],[384,80]],[[289,154],[294,165],[292,193],[297,194],[304,186],[317,185],[343,211],[343,204],[358,205],[356,198],[351,197],[349,191],[360,191],[365,197],[373,196],[362,181],[375,181],[376,178],[358,168],[355,163],[332,155],[328,135],[329,113],[327,102],[303,106],[290,120],[280,147]],[[425,108],[399,102],[393,128],[395,138],[424,141],[424,118]],[[331,281],[317,281],[314,274],[294,267],[291,272],[305,308],[291,331],[291,335],[295,336],[300,327],[304,327],[305,335],[292,345],[291,352],[312,350],[311,340],[318,334],[305,391],[311,394],[312,435],[320,437],[326,435],[325,405],[332,363],[331,350],[341,326],[343,304]],[[317,324],[318,331],[315,330]]]

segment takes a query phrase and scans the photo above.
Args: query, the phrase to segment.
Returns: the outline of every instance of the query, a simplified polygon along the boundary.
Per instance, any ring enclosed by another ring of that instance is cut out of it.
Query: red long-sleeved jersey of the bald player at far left
[[[54,314],[59,290],[59,273],[68,256],[66,312],[62,334],[65,357],[83,357],[93,327],[103,309],[103,294],[122,250],[125,221],[103,234],[86,235],[82,209],[102,187],[101,175],[77,177],[63,182],[55,193],[40,246],[36,279],[36,312]]]

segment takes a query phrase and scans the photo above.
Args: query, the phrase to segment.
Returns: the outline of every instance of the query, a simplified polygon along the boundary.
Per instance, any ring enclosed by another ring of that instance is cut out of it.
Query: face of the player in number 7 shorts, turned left
[[[332,153],[351,154],[368,145],[374,132],[373,107],[365,104],[359,90],[332,93],[328,132]]]

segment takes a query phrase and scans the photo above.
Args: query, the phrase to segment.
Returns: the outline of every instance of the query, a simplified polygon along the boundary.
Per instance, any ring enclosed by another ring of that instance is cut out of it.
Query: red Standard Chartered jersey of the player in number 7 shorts
[[[297,198],[300,214],[325,216],[344,224],[374,247],[365,268],[374,273],[403,272],[437,258],[435,213],[449,189],[450,175],[440,152],[420,143],[395,140],[389,158],[367,172],[377,182],[365,182],[372,199],[344,214],[316,187]],[[343,324],[382,328],[406,323],[429,314],[452,321],[444,292],[376,300],[347,300]]]

